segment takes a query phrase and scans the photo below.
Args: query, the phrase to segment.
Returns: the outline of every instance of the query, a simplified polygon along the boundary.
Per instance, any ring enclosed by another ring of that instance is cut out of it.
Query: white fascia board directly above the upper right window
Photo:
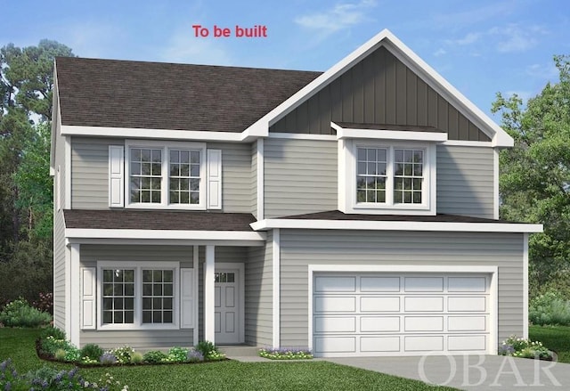
[[[403,140],[443,143],[447,141],[447,134],[441,132],[413,132],[386,129],[352,129],[341,127],[334,122],[330,126],[337,131],[337,139],[365,138],[377,140]]]

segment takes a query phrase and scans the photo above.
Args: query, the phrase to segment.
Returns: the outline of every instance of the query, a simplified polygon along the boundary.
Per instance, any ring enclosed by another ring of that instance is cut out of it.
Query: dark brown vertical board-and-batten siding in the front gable
[[[281,118],[270,132],[334,134],[330,121],[433,126],[450,140],[491,141],[383,46]]]

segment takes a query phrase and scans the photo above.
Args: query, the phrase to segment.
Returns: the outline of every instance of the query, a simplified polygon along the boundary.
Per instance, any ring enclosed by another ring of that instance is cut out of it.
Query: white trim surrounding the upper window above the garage
[[[387,148],[388,167],[394,164],[394,149],[424,150],[424,189],[421,204],[393,203],[394,174],[388,169],[387,202],[356,202],[356,158],[358,148]],[[418,142],[392,142],[386,140],[338,140],[338,209],[344,213],[371,215],[436,215],[436,144]]]

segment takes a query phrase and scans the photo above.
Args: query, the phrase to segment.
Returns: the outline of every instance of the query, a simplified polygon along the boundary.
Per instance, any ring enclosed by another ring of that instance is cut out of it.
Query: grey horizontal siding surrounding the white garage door
[[[308,265],[499,267],[499,336],[523,335],[523,234],[281,229],[281,346],[308,344]]]

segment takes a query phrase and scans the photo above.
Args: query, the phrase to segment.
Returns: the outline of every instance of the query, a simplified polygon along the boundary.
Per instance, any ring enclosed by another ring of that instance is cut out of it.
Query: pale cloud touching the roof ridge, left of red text
[[[221,39],[194,37],[191,24],[177,29],[167,40],[159,61],[232,65],[232,56]]]

